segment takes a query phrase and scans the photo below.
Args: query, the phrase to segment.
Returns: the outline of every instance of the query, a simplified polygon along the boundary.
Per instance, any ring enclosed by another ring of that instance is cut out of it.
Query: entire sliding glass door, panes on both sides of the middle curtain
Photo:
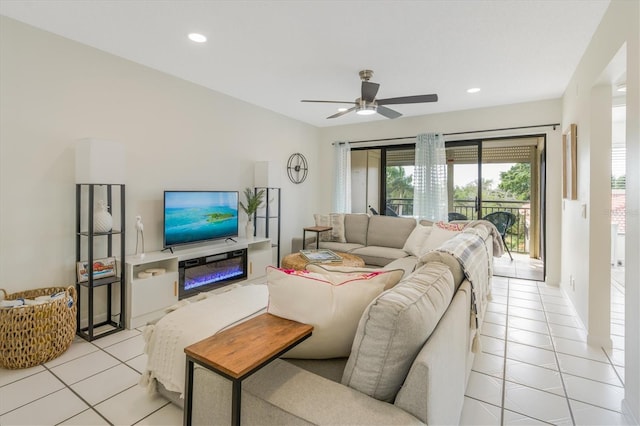
[[[512,213],[509,250],[541,258],[544,137],[450,141],[446,155],[450,220]],[[413,216],[414,165],[414,144],[353,149],[352,211]]]

